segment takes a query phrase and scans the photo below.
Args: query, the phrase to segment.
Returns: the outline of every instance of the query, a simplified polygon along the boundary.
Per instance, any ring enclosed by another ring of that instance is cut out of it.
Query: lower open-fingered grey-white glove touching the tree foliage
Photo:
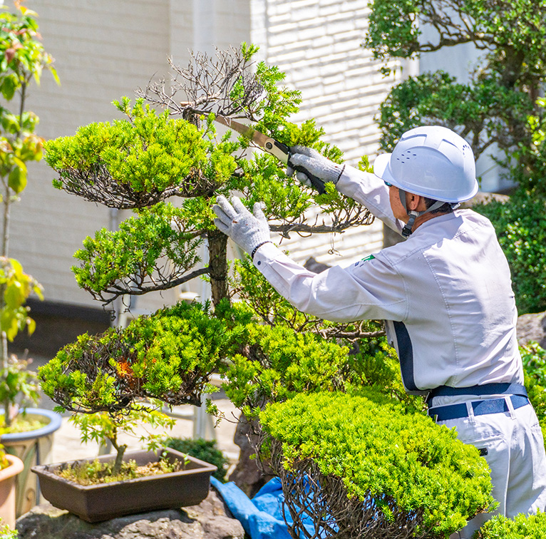
[[[230,204],[226,197],[218,195],[216,202],[217,205],[212,207],[217,215],[215,225],[252,258],[258,247],[271,242],[269,225],[261,202],[254,204],[254,215],[244,207],[238,197],[232,197]]]

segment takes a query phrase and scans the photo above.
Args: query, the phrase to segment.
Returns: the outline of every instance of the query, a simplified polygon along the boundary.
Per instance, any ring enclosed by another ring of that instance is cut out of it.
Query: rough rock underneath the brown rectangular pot
[[[243,539],[239,520],[211,488],[199,505],[126,515],[88,523],[53,507],[36,505],[16,522],[19,539]]]

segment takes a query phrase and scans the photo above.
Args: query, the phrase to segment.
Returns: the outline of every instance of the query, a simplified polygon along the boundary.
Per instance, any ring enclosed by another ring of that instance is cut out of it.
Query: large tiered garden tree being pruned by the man
[[[243,44],[218,51],[215,58],[197,53],[187,68],[171,64],[172,81],[160,79],[140,89],[134,104],[128,98],[115,102],[123,119],[86,125],[46,143],[57,188],[134,214],[119,230],[103,229],[84,240],[73,268],[81,287],[108,307],[116,298],[197,277],[208,279],[212,289],[211,304],[176,304],[127,328],[84,335],[59,351],[38,374],[43,391],[63,409],[108,414],[115,421],[128,411],[150,410],[144,399],[199,405],[200,395],[210,391],[210,375],[218,371],[227,396],[254,426],[257,450],[270,438],[282,441],[262,428],[267,417],[262,410],[271,403],[288,405],[301,393],[319,399],[375,386],[385,399],[403,402],[403,410],[421,413],[421,399],[402,396],[396,356],[381,323],[333,324],[309,317],[280,298],[248,258],[228,263],[227,237],[212,223],[219,194],[240,193],[249,207],[264,202],[272,230],[284,236],[341,233],[372,220],[334,188],[318,195],[288,180],[283,165],[252,148],[247,138],[230,130],[217,133],[215,117],[230,116],[289,146],[312,146],[329,158],[342,158],[339,149],[321,140],[314,121],[300,126],[289,121],[299,93],[280,86],[277,68],[253,63],[256,51]],[[366,157],[360,166],[369,166]],[[321,208],[319,220],[307,220],[311,204]],[[198,256],[203,242],[207,265]],[[217,412],[213,404],[208,408]],[[436,429],[430,419],[421,419],[431,432]],[[455,442],[445,441],[445,451]],[[282,446],[269,445],[270,461],[282,461]],[[354,455],[344,448],[339,458]],[[473,463],[475,473],[482,473],[483,461]],[[321,479],[325,491],[330,484]],[[442,514],[470,518],[483,510],[490,483],[484,478],[475,486],[475,497],[464,508],[454,502]],[[461,520],[449,518],[455,530]]]

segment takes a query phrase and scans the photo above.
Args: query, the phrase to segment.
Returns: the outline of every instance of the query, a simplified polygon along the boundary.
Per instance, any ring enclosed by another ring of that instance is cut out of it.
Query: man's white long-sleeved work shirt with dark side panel
[[[375,175],[346,167],[337,188],[401,232]],[[472,210],[433,217],[405,242],[350,267],[314,274],[272,243],[259,247],[254,265],[302,312],[386,320],[410,393],[523,383],[508,262],[490,221]]]

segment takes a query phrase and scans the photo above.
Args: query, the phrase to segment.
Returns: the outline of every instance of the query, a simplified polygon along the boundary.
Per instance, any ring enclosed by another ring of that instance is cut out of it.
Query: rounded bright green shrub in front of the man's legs
[[[293,537],[311,519],[320,537],[447,538],[493,506],[476,448],[376,391],[298,394],[259,418]]]

